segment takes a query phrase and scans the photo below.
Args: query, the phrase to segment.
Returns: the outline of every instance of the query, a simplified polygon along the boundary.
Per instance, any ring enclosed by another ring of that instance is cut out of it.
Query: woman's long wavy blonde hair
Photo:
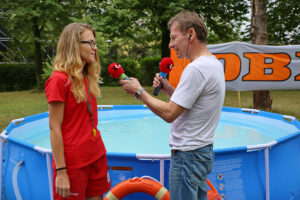
[[[101,66],[98,54],[96,53],[96,62],[86,63],[82,67],[79,45],[85,30],[91,30],[96,37],[94,29],[88,24],[72,23],[65,26],[60,35],[54,59],[54,70],[68,74],[69,82],[72,83],[71,90],[77,103],[87,99],[83,83],[84,74],[90,92],[96,97],[100,96],[98,84],[100,83]]]

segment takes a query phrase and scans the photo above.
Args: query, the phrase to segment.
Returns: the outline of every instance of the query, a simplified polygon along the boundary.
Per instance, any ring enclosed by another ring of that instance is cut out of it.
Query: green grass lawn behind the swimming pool
[[[152,87],[145,87],[152,94]],[[101,105],[131,105],[143,104],[133,96],[128,95],[121,87],[101,87],[102,98],[98,104]],[[241,107],[252,108],[252,92],[241,92]],[[168,97],[163,94],[158,96],[161,100],[167,101]],[[273,99],[272,112],[291,115],[300,120],[300,91],[281,90],[271,91]],[[224,106],[239,107],[238,93],[226,91]],[[22,118],[48,110],[45,92],[29,90],[20,92],[0,92],[0,132],[13,119]]]

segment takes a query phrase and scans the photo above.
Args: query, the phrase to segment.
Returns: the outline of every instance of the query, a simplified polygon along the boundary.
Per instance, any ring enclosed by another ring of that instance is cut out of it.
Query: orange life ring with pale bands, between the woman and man
[[[169,191],[159,182],[146,178],[127,179],[113,187],[103,200],[121,200],[128,194],[143,192],[157,200],[169,200]]]

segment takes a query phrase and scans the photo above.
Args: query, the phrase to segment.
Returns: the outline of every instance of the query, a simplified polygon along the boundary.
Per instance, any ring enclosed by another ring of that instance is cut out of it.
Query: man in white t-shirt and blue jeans
[[[156,75],[153,86],[162,83],[164,102],[147,93],[135,78],[122,80],[124,90],[142,100],[152,112],[171,124],[169,145],[171,200],[206,200],[207,174],[213,167],[213,142],[225,96],[223,66],[206,46],[207,30],[195,12],[182,11],[168,23],[169,47],[178,58],[191,63],[184,69],[177,88]]]

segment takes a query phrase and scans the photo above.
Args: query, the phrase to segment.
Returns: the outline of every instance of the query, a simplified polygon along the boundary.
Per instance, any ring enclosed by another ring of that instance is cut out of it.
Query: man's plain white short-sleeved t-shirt
[[[186,108],[171,124],[171,149],[190,151],[212,144],[224,96],[224,69],[215,56],[200,56],[187,65],[170,99]]]

